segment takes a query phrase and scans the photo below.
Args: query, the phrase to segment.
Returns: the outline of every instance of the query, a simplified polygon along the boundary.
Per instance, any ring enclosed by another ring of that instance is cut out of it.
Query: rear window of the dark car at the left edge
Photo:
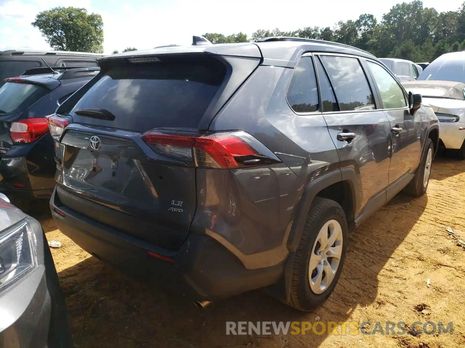
[[[26,110],[45,96],[48,91],[46,88],[35,84],[7,82],[0,87],[0,116]]]

